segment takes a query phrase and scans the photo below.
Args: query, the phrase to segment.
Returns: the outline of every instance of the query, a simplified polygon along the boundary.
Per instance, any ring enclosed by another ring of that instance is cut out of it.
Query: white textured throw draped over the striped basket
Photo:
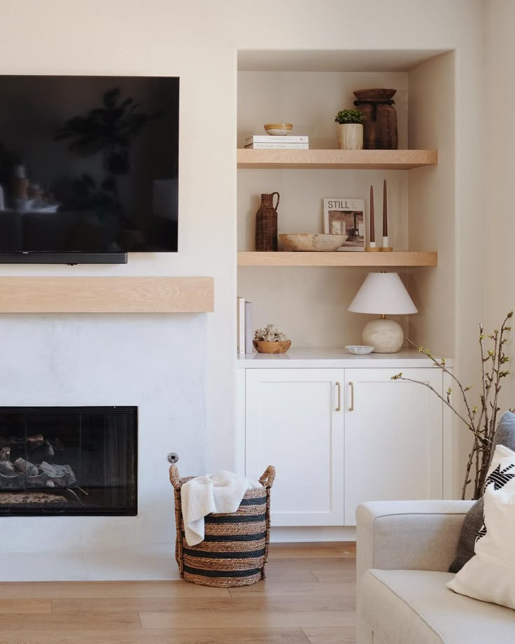
[[[256,487],[262,485],[227,470],[197,476],[183,484],[181,505],[188,545],[204,541],[204,517],[207,514],[236,512],[246,491]]]

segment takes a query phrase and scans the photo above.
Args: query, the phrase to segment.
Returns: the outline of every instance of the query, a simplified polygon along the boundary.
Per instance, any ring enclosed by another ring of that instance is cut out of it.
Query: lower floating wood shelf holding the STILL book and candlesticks
[[[239,266],[436,266],[435,251],[393,253],[266,253],[248,251],[238,253]]]

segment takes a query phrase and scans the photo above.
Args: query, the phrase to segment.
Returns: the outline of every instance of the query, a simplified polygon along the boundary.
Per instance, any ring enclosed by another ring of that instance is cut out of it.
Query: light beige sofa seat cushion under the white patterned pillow
[[[445,585],[452,577],[372,568],[362,580],[362,619],[386,644],[511,642],[514,612],[453,593]]]

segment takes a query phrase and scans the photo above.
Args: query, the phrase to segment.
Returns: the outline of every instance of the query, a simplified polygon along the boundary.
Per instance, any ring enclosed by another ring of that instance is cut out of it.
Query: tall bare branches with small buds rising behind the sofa
[[[505,369],[504,365],[509,362],[505,346],[508,342],[509,332],[512,330],[512,327],[509,326],[509,320],[512,318],[512,315],[513,311],[510,311],[505,317],[505,321],[503,321],[500,329],[495,329],[492,335],[488,335],[488,338],[484,333],[483,325],[479,325],[479,349],[481,351],[481,393],[479,395],[479,404],[474,405],[471,403],[469,393],[471,387],[463,386],[461,381],[446,366],[445,358],[435,358],[425,346],[418,346],[409,339],[409,344],[416,347],[425,356],[428,356],[435,367],[441,369],[442,372],[451,378],[454,386],[449,387],[446,393],[442,395],[427,382],[406,378],[402,373],[392,377],[392,380],[416,382],[430,389],[472,432],[472,449],[467,460],[461,498],[465,498],[465,491],[470,483],[474,484],[472,498],[478,499],[483,496],[486,474],[492,457],[495,433],[497,432],[497,416],[498,412],[500,412],[498,400],[501,381],[509,374],[509,370]],[[486,340],[491,341],[490,348],[486,346]],[[453,391],[456,388],[459,397],[463,400],[463,411],[458,409],[460,403],[458,402],[455,405],[452,398]],[[471,476],[472,468],[474,468],[473,476]]]

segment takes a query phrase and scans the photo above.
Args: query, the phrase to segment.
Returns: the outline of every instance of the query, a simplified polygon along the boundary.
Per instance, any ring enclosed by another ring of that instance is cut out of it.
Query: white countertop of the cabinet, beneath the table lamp
[[[274,368],[274,367],[393,367],[406,363],[409,367],[431,367],[432,360],[423,356],[416,349],[401,349],[397,353],[367,353],[366,356],[355,356],[346,349],[302,349],[291,347],[288,353],[246,353],[237,358],[240,369]],[[446,365],[452,367],[452,360],[446,358]]]

